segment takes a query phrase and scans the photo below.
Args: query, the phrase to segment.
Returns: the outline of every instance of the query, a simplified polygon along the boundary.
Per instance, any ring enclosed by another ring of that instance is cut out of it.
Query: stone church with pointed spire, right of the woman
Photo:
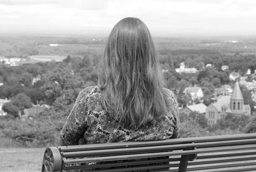
[[[224,119],[226,114],[251,116],[249,104],[243,104],[243,95],[236,81],[232,95],[220,95],[216,103],[211,103],[205,110],[205,117],[208,125],[217,123],[217,120]]]

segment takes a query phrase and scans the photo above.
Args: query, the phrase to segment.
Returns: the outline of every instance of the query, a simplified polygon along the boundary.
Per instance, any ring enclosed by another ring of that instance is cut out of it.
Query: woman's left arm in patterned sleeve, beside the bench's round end
[[[73,109],[60,133],[60,145],[78,145],[86,130],[88,106],[86,104],[86,91],[82,90],[74,103]]]

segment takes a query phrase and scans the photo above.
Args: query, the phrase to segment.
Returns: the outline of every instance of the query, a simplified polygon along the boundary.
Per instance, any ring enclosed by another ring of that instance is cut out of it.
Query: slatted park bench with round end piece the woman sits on
[[[256,133],[45,149],[42,172],[256,171]]]

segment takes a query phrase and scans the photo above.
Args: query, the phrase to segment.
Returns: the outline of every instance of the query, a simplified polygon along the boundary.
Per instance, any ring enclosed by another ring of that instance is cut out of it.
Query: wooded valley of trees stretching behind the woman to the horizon
[[[0,63],[0,98],[10,100],[2,106],[0,116],[1,147],[40,147],[58,145],[58,136],[74,101],[83,88],[98,84],[101,59],[107,38],[92,37],[0,37],[0,56],[20,58],[24,63],[9,66]],[[154,38],[157,56],[166,87],[172,90],[180,105],[191,103],[183,92],[198,85],[204,92],[203,103],[213,101],[214,89],[223,84],[233,87],[232,71],[256,80],[256,39],[239,38]],[[58,46],[49,46],[58,44]],[[62,61],[31,62],[33,55],[66,56]],[[185,62],[196,68],[195,74],[179,74],[176,68]],[[211,64],[211,68],[205,67]],[[221,66],[229,69],[223,71]],[[246,74],[250,69],[251,74]],[[35,78],[37,78],[35,80]],[[245,104],[252,117],[227,115],[214,126],[204,116],[180,114],[180,137],[224,135],[256,132],[255,102],[251,91],[241,87]],[[46,104],[48,107],[23,116],[29,109]]]

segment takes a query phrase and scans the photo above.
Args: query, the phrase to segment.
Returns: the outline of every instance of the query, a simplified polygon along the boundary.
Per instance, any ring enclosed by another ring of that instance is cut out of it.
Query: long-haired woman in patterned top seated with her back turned
[[[80,92],[61,131],[62,146],[177,138],[177,99],[163,88],[151,34],[138,18],[114,26],[100,81]]]

